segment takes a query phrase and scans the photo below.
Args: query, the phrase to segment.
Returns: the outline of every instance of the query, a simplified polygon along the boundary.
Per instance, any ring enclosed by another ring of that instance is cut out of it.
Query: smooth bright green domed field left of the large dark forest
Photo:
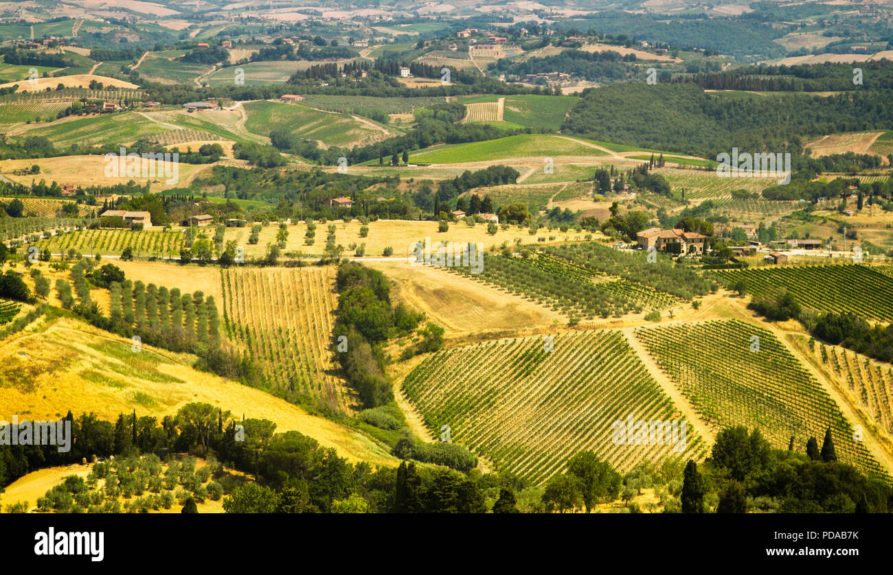
[[[546,158],[550,156],[604,156],[605,152],[579,139],[541,134],[521,134],[496,140],[449,144],[413,152],[410,161],[450,164],[469,161],[506,160],[510,158]]]

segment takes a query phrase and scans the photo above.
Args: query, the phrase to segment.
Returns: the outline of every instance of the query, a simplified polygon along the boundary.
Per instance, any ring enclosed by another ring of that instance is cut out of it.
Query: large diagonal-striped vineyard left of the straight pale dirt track
[[[575,332],[487,341],[438,351],[403,388],[425,423],[487,456],[501,472],[537,483],[581,450],[624,472],[675,456],[672,445],[615,445],[612,424],[680,420],[620,332]],[[680,456],[699,460],[702,440],[687,428]],[[656,442],[655,442],[656,443]]]

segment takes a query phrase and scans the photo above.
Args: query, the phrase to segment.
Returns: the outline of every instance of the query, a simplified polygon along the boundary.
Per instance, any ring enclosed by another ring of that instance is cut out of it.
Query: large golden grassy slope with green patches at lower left
[[[173,415],[190,402],[206,402],[241,417],[269,419],[277,431],[300,431],[357,462],[396,466],[395,457],[359,431],[309,415],[284,399],[191,367],[194,357],[131,341],[73,319],[57,319],[0,342],[0,418],[34,419],[93,412],[114,421],[138,415]]]

